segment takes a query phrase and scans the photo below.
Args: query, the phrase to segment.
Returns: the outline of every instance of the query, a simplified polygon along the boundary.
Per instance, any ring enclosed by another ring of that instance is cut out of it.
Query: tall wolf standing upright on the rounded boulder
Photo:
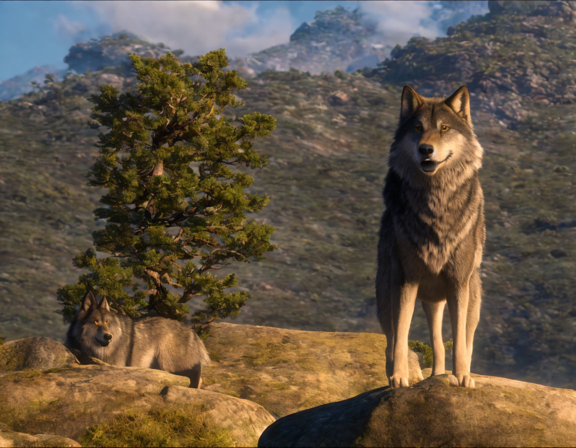
[[[388,339],[386,375],[393,387],[408,386],[408,328],[416,298],[428,321],[432,374],[445,372],[447,302],[453,375],[458,385],[474,387],[470,362],[486,238],[478,178],[482,153],[465,86],[449,98],[422,97],[404,86],[388,159],[376,277],[378,318]]]

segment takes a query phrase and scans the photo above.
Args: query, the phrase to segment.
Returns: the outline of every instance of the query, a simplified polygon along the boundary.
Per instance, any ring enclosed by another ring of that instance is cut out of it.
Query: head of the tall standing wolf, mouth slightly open
[[[404,86],[389,165],[403,179],[426,184],[467,179],[482,166],[466,86],[448,98],[423,97]]]

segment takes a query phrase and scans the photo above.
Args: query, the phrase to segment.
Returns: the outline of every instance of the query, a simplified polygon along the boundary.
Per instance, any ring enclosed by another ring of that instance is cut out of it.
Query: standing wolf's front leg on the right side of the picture
[[[473,388],[474,380],[468,371],[468,354],[466,347],[466,322],[469,301],[469,281],[455,282],[448,294],[448,310],[452,324],[454,345],[452,348],[452,374],[458,386]]]

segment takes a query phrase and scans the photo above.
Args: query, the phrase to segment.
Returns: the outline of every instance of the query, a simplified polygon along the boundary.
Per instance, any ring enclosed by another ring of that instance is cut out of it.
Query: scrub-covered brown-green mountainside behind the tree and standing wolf
[[[375,69],[248,79],[238,92],[245,107],[226,116],[261,111],[278,119],[256,145],[270,164],[254,173],[251,191],[271,196],[253,217],[275,226],[280,249],[230,268],[254,296],[236,322],[378,331],[381,189],[402,86],[448,95],[468,83],[484,148],[487,222],[473,370],[574,388],[573,11],[574,2],[491,2],[490,13],[452,35],[412,39]],[[65,333],[55,291],[77,279],[71,260],[103,225],[92,217],[103,192],[85,178],[97,154],[86,97],[101,83],[126,90],[132,82],[124,69],[107,67],[0,102],[0,335],[7,339]],[[446,316],[445,339],[449,328]],[[428,340],[420,307],[410,337]]]

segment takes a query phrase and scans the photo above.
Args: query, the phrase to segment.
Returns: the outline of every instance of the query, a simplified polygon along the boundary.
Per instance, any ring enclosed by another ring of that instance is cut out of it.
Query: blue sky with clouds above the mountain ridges
[[[243,56],[287,43],[302,22],[336,5],[376,18],[384,43],[442,35],[430,20],[439,7],[433,0],[0,0],[0,81],[39,65],[64,68],[71,45],[122,30],[190,55],[224,47]]]

